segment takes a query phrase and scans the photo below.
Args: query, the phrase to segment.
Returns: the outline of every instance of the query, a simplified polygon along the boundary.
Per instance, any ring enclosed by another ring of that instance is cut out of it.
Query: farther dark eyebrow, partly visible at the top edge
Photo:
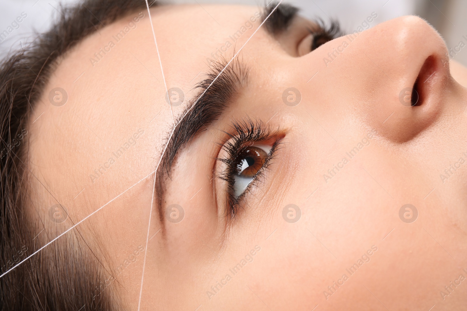
[[[272,4],[272,5],[271,5]],[[289,28],[290,23],[295,17],[297,17],[299,9],[290,4],[281,3],[276,10],[277,2],[274,1],[268,6],[264,7],[263,16],[269,16],[269,19],[266,21],[265,26],[270,35],[278,35],[281,32]],[[274,10],[274,11],[273,11]],[[264,18],[264,17],[263,17]],[[264,20],[263,20],[264,21]]]

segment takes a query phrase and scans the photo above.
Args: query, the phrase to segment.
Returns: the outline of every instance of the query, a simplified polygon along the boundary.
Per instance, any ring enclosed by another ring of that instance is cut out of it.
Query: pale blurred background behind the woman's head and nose
[[[149,4],[153,1],[149,0]],[[4,30],[13,29],[7,36],[0,36],[0,58],[3,58],[11,49],[20,48],[25,41],[30,41],[36,31],[47,30],[57,14],[60,3],[68,5],[79,2],[80,0],[0,0],[0,34]],[[203,3],[251,5],[265,3],[263,0],[198,0],[198,2],[197,0],[171,0],[166,2],[199,3],[200,5]],[[324,21],[339,21],[345,32],[356,30],[372,12],[378,14],[378,17],[370,23],[371,27],[401,15],[421,16],[445,38],[448,48],[452,48],[450,58],[467,66],[467,48],[460,48],[460,46],[467,45],[467,0],[284,0],[284,2],[300,7],[302,15],[307,18],[320,17]],[[20,18],[16,20],[18,17]],[[8,28],[19,20],[21,20],[20,23]]]

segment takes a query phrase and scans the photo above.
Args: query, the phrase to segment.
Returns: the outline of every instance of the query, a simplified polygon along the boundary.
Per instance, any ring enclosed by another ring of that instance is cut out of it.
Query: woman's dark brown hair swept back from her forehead
[[[50,31],[1,62],[0,274],[43,246],[44,239],[35,238],[40,228],[23,212],[35,208],[28,193],[28,182],[35,177],[28,171],[24,136],[35,101],[60,56],[87,35],[138,10],[146,10],[144,0],[86,0],[61,7]],[[122,310],[119,295],[103,285],[104,270],[74,228],[0,278],[0,310]]]

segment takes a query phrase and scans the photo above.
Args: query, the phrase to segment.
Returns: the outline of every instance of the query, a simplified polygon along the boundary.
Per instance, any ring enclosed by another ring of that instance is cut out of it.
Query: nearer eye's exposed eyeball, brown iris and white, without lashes
[[[248,185],[253,181],[256,174],[268,159],[271,147],[268,146],[246,146],[243,147],[234,160],[236,167],[235,183],[233,191],[236,197],[239,197]]]

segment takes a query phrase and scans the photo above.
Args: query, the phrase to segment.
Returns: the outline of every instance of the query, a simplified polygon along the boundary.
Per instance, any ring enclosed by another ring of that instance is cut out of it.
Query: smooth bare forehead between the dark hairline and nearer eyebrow
[[[163,71],[147,10],[85,38],[59,62],[30,118],[32,172],[68,205],[76,204],[79,198],[73,198],[82,189],[95,205],[105,204],[152,172],[172,113],[179,115],[195,95],[193,85],[204,78],[210,61],[230,59],[247,41],[261,23],[260,11],[152,8]],[[180,90],[185,99],[172,111],[163,77],[167,88]],[[103,191],[110,193],[102,196]]]

